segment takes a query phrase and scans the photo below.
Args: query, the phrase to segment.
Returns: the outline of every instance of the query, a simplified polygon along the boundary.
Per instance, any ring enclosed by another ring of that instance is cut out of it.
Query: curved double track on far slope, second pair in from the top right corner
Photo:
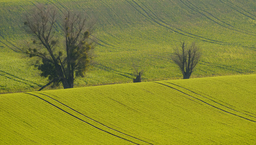
[[[190,3],[192,6],[194,6],[197,10],[203,11],[203,12],[205,12],[205,13],[211,15],[213,18],[217,19],[218,21],[220,21],[220,22],[222,22],[222,23],[224,23],[224,24],[226,24],[226,25],[228,25],[228,26],[230,26],[230,27],[232,27],[232,28],[236,28],[236,27],[234,27],[234,26],[232,26],[232,25],[230,25],[230,24],[227,24],[225,21],[220,20],[219,18],[215,17],[215,16],[212,15],[211,13],[209,13],[209,12],[207,12],[207,11],[205,11],[205,10],[202,10],[202,9],[198,8],[198,7],[197,7],[196,5],[194,5],[191,1],[189,1],[189,0],[186,0],[186,1],[187,1],[188,3]],[[190,9],[192,10],[192,8],[190,8]],[[193,10],[193,11],[195,11],[195,10]],[[199,11],[195,11],[195,12],[206,16],[205,14],[203,14],[203,13],[201,13],[201,12],[199,12]],[[231,30],[235,30],[235,31],[238,31],[238,32],[247,34],[247,35],[256,36],[256,33],[254,33],[254,32],[251,32],[251,31],[248,31],[248,30],[244,30],[244,29],[240,29],[240,28],[236,28],[236,29],[228,28],[228,27],[223,26],[223,25],[221,25],[220,23],[218,23],[218,22],[212,20],[210,17],[208,17],[208,16],[206,16],[206,17],[207,17],[208,19],[210,19],[211,21],[215,22],[216,24],[218,24],[218,25],[220,25],[220,26],[222,26],[222,27],[224,27],[224,28],[226,28],[226,29],[231,29]],[[240,30],[242,30],[242,31],[237,30],[237,29],[240,29]],[[245,32],[244,32],[244,31],[245,31]],[[248,32],[249,32],[249,33],[253,33],[253,34],[249,34]]]

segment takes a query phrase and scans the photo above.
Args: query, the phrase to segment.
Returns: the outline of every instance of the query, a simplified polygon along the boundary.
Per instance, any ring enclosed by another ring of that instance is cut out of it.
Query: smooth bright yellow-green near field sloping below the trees
[[[254,144],[256,75],[0,95],[0,144]]]

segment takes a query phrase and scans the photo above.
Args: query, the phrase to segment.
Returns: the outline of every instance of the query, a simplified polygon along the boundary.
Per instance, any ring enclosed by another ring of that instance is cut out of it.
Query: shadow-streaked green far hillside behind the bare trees
[[[38,2],[54,4],[60,13],[87,11],[97,19],[97,64],[76,86],[131,82],[133,63],[147,71],[145,81],[180,78],[170,61],[180,40],[196,41],[203,49],[193,77],[255,73],[253,0],[0,0],[0,92],[46,83],[8,48],[30,40],[22,15]]]

